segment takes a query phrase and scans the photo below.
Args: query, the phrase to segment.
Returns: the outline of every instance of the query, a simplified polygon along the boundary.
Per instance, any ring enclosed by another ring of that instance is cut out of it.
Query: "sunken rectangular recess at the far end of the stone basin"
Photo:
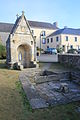
[[[34,76],[34,82],[36,84],[50,82],[50,81],[69,80],[69,79],[70,79],[70,72],[40,71]]]

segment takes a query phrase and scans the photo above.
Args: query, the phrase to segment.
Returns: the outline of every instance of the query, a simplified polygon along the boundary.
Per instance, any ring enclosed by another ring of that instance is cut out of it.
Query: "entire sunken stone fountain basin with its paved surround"
[[[75,84],[75,81],[80,80],[80,71],[53,72],[28,69],[20,74],[19,79],[32,109],[80,100],[80,85]]]

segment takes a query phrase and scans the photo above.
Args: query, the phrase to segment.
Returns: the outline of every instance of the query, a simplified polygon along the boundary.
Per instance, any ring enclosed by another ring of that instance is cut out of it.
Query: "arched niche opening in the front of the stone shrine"
[[[24,68],[29,67],[31,62],[31,47],[27,44],[19,45],[17,48],[17,61]]]

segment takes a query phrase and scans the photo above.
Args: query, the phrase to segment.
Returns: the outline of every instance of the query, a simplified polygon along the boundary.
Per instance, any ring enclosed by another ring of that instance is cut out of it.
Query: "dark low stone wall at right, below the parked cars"
[[[74,54],[58,55],[58,61],[64,65],[69,65],[80,69],[80,55]]]

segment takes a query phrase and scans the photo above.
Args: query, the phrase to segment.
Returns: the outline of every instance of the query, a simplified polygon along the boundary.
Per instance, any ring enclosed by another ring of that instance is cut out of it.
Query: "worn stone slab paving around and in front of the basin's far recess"
[[[35,84],[30,79],[34,77],[38,69],[28,69],[20,74],[19,79],[22,83],[26,96],[32,109],[45,108],[58,104],[66,104],[80,100],[80,86],[71,81],[50,81]],[[60,91],[60,85],[66,83],[69,92]]]

